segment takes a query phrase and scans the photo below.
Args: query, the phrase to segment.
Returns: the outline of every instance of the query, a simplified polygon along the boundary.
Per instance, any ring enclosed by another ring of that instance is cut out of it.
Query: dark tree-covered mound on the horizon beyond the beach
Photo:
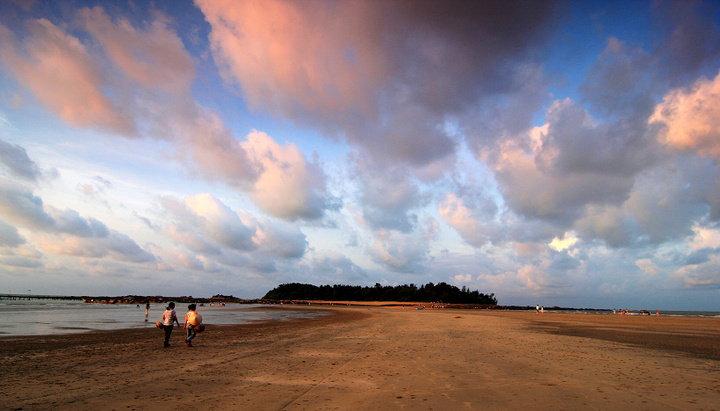
[[[427,283],[420,287],[415,284],[373,287],[359,285],[321,285],[288,283],[268,291],[263,299],[268,300],[326,300],[326,301],[398,301],[398,302],[442,302],[448,304],[491,304],[496,305],[495,294],[470,291],[447,283]]]

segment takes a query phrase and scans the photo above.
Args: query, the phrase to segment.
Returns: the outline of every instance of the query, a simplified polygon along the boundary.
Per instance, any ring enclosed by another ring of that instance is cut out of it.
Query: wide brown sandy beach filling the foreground
[[[719,319],[332,311],[194,348],[177,327],[167,349],[157,329],[0,338],[0,409],[720,408]]]

